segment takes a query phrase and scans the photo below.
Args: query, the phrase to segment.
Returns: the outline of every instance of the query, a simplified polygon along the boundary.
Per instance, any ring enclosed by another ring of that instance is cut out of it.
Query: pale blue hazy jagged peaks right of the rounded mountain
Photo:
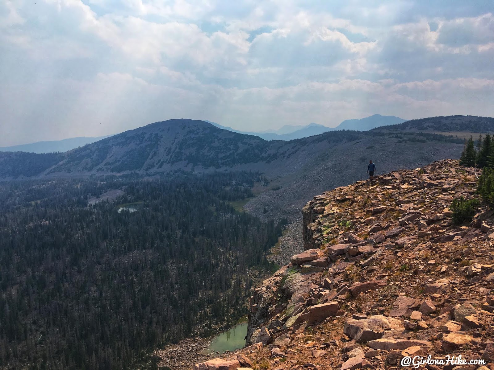
[[[365,117],[361,119],[344,120],[336,127],[327,127],[317,123],[310,123],[306,126],[285,125],[278,130],[249,132],[249,131],[235,130],[231,127],[222,126],[216,122],[205,120],[205,122],[208,122],[223,130],[237,132],[239,134],[245,134],[245,135],[254,135],[264,140],[285,140],[285,141],[307,138],[309,136],[319,135],[328,131],[338,131],[338,130],[367,131],[375,127],[396,125],[406,121],[407,121],[406,119],[396,117],[394,115],[374,114],[369,117]]]

